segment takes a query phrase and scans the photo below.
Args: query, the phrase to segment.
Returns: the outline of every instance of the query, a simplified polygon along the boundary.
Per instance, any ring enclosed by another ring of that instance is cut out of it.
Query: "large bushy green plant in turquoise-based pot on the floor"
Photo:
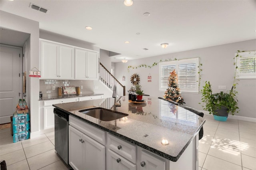
[[[203,109],[208,111],[209,114],[213,114],[215,120],[226,121],[228,113],[231,115],[238,113],[238,100],[236,99],[238,92],[235,91],[235,89],[236,84],[234,84],[232,89],[227,93],[221,91],[220,93],[212,94],[211,84],[209,81],[206,81],[205,86],[203,86],[201,90],[201,101],[204,103],[204,105],[202,105]]]

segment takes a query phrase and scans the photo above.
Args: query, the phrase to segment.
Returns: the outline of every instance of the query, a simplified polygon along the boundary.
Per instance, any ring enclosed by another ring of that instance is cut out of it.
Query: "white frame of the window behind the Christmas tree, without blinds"
[[[173,60],[173,61],[164,61],[159,63],[159,91],[166,91],[168,87],[161,87],[161,68],[163,66],[168,66],[168,65],[176,65],[176,73],[178,75],[178,65],[179,64],[186,64],[186,63],[196,63],[196,88],[191,89],[191,88],[180,88],[181,93],[199,93],[199,57],[195,58],[189,58],[189,59],[180,59],[180,60]],[[166,80],[167,81],[167,80]]]

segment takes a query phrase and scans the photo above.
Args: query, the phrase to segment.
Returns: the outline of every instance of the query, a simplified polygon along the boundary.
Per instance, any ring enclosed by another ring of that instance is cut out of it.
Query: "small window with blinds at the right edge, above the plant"
[[[256,79],[256,51],[246,51],[238,53],[237,79]]]

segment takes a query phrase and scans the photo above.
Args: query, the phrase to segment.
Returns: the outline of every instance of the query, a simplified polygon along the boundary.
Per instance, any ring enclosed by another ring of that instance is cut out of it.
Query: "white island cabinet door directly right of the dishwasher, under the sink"
[[[84,147],[82,141],[82,132],[69,126],[69,164],[74,170],[84,170]]]

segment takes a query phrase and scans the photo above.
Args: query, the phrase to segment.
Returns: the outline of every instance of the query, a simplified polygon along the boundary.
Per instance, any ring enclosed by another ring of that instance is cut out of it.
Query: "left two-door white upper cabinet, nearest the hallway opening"
[[[41,42],[41,78],[74,79],[74,48]]]

